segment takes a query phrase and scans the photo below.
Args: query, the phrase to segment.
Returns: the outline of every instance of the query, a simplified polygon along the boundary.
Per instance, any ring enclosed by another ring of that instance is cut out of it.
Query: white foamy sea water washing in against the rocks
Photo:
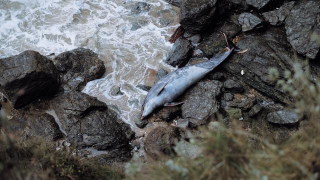
[[[56,54],[86,47],[105,62],[106,74],[89,82],[83,92],[96,96],[120,112],[132,125],[146,92],[135,88],[144,83],[148,68],[157,69],[171,44],[167,38],[176,27],[159,23],[161,11],[169,20],[176,10],[161,0],[144,0],[149,12],[132,15],[130,8],[143,0],[0,0],[0,57],[31,49]],[[143,25],[131,30],[133,23]],[[110,91],[120,87],[123,95]]]

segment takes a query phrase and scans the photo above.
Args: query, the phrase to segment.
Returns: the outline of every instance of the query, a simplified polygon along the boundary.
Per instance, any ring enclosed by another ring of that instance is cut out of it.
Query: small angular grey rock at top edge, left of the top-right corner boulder
[[[272,25],[281,25],[294,6],[294,1],[283,4],[278,10],[262,13],[263,17]]]

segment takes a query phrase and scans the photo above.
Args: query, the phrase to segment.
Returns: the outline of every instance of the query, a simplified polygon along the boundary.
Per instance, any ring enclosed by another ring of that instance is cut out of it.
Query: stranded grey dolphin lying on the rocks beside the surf
[[[244,53],[247,51],[236,47],[232,41],[228,40],[223,33],[227,42],[227,51],[212,57],[207,61],[188,65],[175,69],[166,74],[157,81],[147,93],[142,104],[140,119],[148,116],[154,109],[164,105],[173,106],[183,102],[173,102],[173,100],[181,95],[188,87],[203,78],[207,73],[212,71],[231,53]]]

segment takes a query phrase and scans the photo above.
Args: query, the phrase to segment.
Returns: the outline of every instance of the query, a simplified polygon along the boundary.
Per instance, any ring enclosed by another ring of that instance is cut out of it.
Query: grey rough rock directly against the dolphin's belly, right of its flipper
[[[207,118],[219,109],[217,96],[222,83],[215,80],[201,80],[183,95],[182,118],[189,121],[189,126],[195,127],[206,123]]]

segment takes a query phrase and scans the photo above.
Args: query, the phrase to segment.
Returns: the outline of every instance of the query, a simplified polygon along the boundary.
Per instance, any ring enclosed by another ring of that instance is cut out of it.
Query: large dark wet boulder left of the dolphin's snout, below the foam
[[[67,139],[82,147],[124,148],[133,132],[106,104],[85,93],[71,91],[49,102]]]

